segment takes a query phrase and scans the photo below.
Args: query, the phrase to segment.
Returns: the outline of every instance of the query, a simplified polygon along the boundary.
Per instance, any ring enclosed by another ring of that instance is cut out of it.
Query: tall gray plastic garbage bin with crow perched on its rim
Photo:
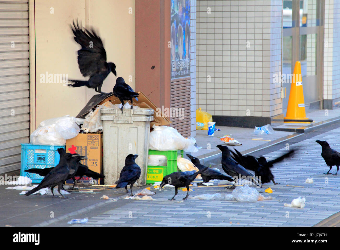
[[[142,172],[137,185],[146,184],[150,121],[153,109],[101,110],[103,121],[104,184],[113,185],[129,154],[138,154],[136,163]]]

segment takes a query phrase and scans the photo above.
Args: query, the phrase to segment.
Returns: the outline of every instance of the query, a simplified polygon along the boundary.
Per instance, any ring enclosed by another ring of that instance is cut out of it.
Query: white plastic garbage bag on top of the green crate
[[[168,126],[152,126],[153,131],[149,135],[149,149],[184,150],[185,152],[195,153],[196,140],[193,137],[184,138],[176,129]]]

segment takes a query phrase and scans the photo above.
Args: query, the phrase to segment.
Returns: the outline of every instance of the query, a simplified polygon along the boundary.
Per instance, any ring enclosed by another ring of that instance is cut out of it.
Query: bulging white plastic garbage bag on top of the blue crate
[[[30,141],[38,145],[65,145],[67,139],[79,134],[79,125],[83,122],[84,119],[69,115],[42,121],[31,134]]]

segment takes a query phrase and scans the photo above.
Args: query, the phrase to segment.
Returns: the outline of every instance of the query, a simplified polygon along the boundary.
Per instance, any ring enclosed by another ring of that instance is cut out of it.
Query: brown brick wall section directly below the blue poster
[[[171,127],[184,137],[190,136],[190,78],[171,81],[171,108],[179,109],[180,116],[174,111],[171,114]],[[184,113],[182,114],[182,108]],[[183,117],[183,119],[182,119]]]

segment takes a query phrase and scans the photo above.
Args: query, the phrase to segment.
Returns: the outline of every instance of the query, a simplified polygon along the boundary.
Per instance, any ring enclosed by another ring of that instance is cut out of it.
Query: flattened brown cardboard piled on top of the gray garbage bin
[[[157,106],[153,104],[153,102],[146,97],[141,91],[137,92],[139,94],[138,101],[136,99],[133,99],[133,104],[145,108],[145,109],[153,109],[153,121],[150,123],[150,130],[152,129],[152,126],[155,124],[157,126],[160,125],[169,125],[171,121],[164,116],[162,113],[162,110],[158,110],[156,112]],[[102,105],[103,103],[111,101],[112,104],[120,104],[121,101],[113,95],[113,93],[103,94],[103,95],[94,95],[92,98],[88,101],[84,109],[82,109],[79,114],[77,115],[77,118],[84,118],[92,108],[96,107],[97,105]],[[126,101],[125,101],[126,102]],[[131,102],[128,101],[130,104]]]

